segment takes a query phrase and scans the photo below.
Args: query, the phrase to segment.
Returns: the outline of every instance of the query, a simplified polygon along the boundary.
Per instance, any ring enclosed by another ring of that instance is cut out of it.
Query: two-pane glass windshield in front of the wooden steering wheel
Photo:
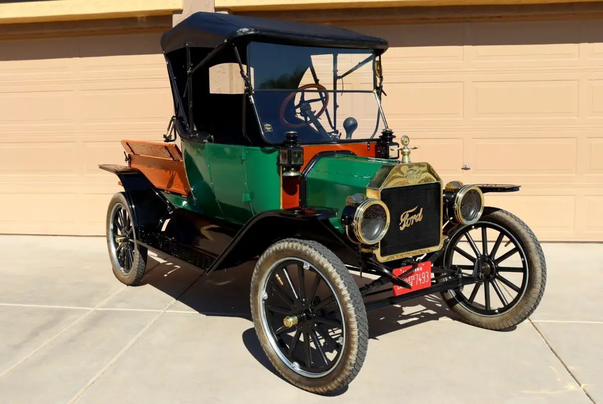
[[[262,130],[280,143],[370,139],[383,127],[369,49],[252,42],[249,74]]]

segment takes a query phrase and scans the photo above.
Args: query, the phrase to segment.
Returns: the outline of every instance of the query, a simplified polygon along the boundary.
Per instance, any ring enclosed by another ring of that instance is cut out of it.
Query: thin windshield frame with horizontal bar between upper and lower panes
[[[259,116],[259,112],[257,111],[257,104],[256,104],[256,99],[255,99],[255,93],[256,91],[272,91],[272,92],[293,92],[297,89],[267,89],[267,90],[257,90],[253,87],[253,83],[251,81],[251,54],[253,52],[250,51],[250,46],[252,43],[265,43],[265,44],[270,44],[270,45],[286,45],[286,46],[299,46],[299,45],[293,45],[290,43],[278,43],[278,42],[265,42],[262,40],[251,40],[250,42],[248,42],[245,45],[245,66],[242,65],[242,61],[239,58],[239,65],[241,67],[241,73],[245,75],[245,81],[247,81],[247,85],[248,85],[248,96],[250,98],[251,101],[251,106],[253,107],[254,110],[254,118],[256,118],[257,121],[257,125],[259,127],[259,132],[260,135],[262,136],[262,139],[264,139],[265,142],[267,142],[270,145],[282,145],[284,140],[285,140],[285,135],[283,134],[282,140],[280,141],[273,141],[268,139],[268,137],[266,136],[265,132],[264,132],[264,127],[261,124],[261,119]],[[337,99],[337,94],[338,93],[373,93],[374,97],[375,97],[375,101],[377,103],[377,117],[376,117],[376,125],[375,125],[375,129],[373,131],[373,134],[370,137],[365,137],[365,138],[361,138],[361,139],[345,139],[345,138],[341,138],[339,137],[339,139],[332,139],[332,140],[327,140],[327,139],[323,139],[323,140],[316,140],[316,141],[302,141],[300,140],[300,144],[301,145],[321,145],[321,144],[353,144],[353,143],[371,143],[371,142],[377,142],[379,140],[377,133],[379,133],[379,124],[380,124],[380,119],[383,119],[383,125],[384,125],[384,129],[388,130],[388,124],[387,124],[387,119],[385,118],[385,114],[384,114],[384,110],[382,108],[381,105],[381,100],[380,100],[380,95],[383,92],[382,89],[382,76],[377,77],[378,74],[381,74],[380,69],[377,69],[377,61],[380,65],[380,55],[377,55],[376,52],[374,51],[374,49],[371,48],[350,48],[350,47],[336,47],[336,46],[308,46],[308,45],[304,45],[304,48],[323,48],[323,49],[333,49],[333,52],[331,53],[334,57],[333,60],[333,89],[331,90],[327,90],[326,92],[330,93],[333,95],[333,106],[336,106],[336,99]],[[341,50],[341,52],[336,52]],[[368,52],[370,52],[370,55],[368,57],[366,57],[364,60],[362,60],[362,62],[359,62],[357,65],[352,66],[352,68],[348,69],[346,72],[344,72],[341,75],[337,75],[337,58],[336,56],[339,55],[340,53],[345,53],[346,51],[358,51],[358,50],[365,50]],[[327,53],[328,54],[328,53]],[[346,90],[346,89],[338,89],[337,88],[337,81],[343,79],[344,77],[346,77],[349,74],[352,74],[354,71],[358,70],[359,68],[361,68],[362,66],[367,65],[367,63],[371,63],[371,75],[372,75],[372,84],[373,84],[373,88],[370,90]],[[315,69],[314,69],[314,64],[310,65],[309,68],[311,69],[312,72],[312,78],[314,79],[314,83],[317,84],[317,75],[315,73]],[[377,84],[377,79],[380,80],[379,84]],[[308,93],[321,93],[324,91],[320,91],[320,90],[301,90],[303,92],[308,92]],[[321,98],[322,95],[320,95]],[[328,112],[325,111],[327,119],[329,121],[329,125],[332,128],[335,128],[335,131],[338,131],[336,129],[336,125],[337,125],[337,121],[336,121],[336,116],[337,116],[337,108],[333,107],[333,122],[331,122],[330,116],[328,115]],[[339,134],[339,136],[341,136],[341,134]]]

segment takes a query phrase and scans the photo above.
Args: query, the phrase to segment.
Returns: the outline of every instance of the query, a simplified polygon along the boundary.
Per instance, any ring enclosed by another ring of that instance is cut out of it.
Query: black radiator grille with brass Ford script
[[[390,209],[390,228],[380,242],[382,256],[440,244],[442,209],[440,183],[386,188],[381,191],[381,200]],[[416,209],[413,210],[415,207]],[[411,210],[412,212],[406,215],[408,218],[406,223],[409,226],[400,230],[400,216]],[[412,216],[418,213],[422,216],[420,221],[413,221]]]

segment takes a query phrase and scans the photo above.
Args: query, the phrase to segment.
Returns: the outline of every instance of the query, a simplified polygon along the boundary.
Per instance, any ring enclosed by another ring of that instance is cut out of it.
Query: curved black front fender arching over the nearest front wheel
[[[236,233],[209,272],[235,267],[262,254],[271,244],[285,238],[301,238],[321,242],[344,262],[358,265],[358,251],[350,246],[332,223],[335,209],[296,207],[268,210],[253,216]]]

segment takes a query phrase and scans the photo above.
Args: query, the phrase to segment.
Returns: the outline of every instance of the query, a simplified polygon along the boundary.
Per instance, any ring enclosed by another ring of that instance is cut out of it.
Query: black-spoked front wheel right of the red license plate
[[[546,263],[538,239],[502,209],[487,208],[477,223],[456,230],[443,264],[478,277],[475,285],[442,292],[450,309],[474,326],[516,326],[534,312],[545,292]]]

